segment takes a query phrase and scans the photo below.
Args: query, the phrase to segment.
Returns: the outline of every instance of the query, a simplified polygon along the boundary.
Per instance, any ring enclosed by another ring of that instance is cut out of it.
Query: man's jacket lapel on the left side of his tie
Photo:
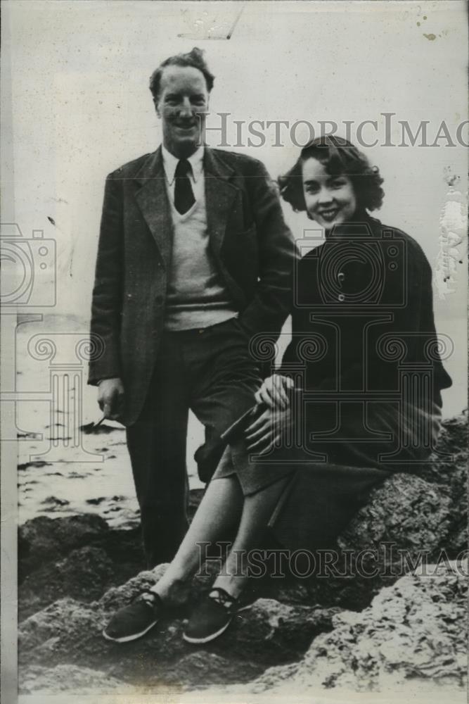
[[[150,228],[161,258],[168,269],[171,262],[173,227],[161,147],[158,147],[155,153],[150,154],[148,160],[136,174],[135,180],[141,182],[136,199],[143,218]]]

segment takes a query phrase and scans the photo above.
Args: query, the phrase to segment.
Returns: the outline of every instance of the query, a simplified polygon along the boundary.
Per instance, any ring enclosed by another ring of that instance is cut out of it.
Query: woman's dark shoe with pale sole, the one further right
[[[226,631],[233,616],[245,608],[248,606],[241,606],[238,599],[216,586],[195,608],[182,637],[188,643],[213,641]]]

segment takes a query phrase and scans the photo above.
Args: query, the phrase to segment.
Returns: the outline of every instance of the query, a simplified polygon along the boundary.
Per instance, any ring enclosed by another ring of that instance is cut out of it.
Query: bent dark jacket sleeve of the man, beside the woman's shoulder
[[[278,337],[290,310],[297,247],[274,183],[262,163],[253,163],[248,189],[257,230],[259,279],[255,296],[239,320],[250,335],[264,332]]]

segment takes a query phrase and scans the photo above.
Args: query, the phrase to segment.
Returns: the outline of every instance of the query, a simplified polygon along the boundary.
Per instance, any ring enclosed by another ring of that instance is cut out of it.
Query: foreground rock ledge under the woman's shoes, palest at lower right
[[[96,694],[120,689],[142,694],[143,689],[155,692],[172,685],[195,689],[223,684],[224,692],[233,696],[269,693],[288,700],[291,691],[305,697],[321,689],[421,694],[439,687],[452,691],[456,701],[465,687],[467,574],[467,561],[428,566],[425,574],[402,577],[383,589],[361,613],[308,612],[259,600],[249,617],[240,614],[211,648],[191,650],[181,640],[177,619],[125,647],[104,641],[97,631],[110,605],[115,608],[158,577],[142,573],[87,608],[63,600],[30,617],[20,629],[22,659],[28,663],[23,691],[79,689]],[[314,638],[324,628],[330,632]],[[253,679],[269,657],[275,660],[285,646],[295,655],[299,641],[311,638],[300,662],[282,666],[278,658],[276,667]],[[64,653],[68,665],[60,664]],[[96,662],[101,672],[91,667]],[[227,688],[231,682],[252,679],[245,686]],[[216,691],[207,691],[207,698]]]

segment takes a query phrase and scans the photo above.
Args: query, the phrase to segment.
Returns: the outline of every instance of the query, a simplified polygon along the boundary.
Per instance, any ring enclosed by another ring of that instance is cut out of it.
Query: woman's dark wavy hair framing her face
[[[357,210],[376,210],[383,203],[383,179],[377,166],[371,166],[366,156],[343,137],[329,134],[316,137],[306,144],[297,162],[284,176],[278,177],[278,186],[284,201],[293,210],[306,210],[303,194],[302,163],[317,159],[331,176],[346,175],[352,181]]]

